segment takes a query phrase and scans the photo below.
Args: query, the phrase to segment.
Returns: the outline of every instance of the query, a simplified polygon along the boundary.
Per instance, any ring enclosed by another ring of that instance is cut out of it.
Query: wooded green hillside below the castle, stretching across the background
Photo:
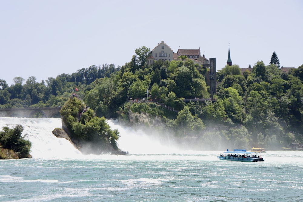
[[[134,55],[122,67],[93,65],[41,83],[18,78],[8,87],[1,80],[0,107],[63,106],[75,93],[97,117],[165,131],[180,143],[188,138],[197,148],[281,149],[303,139],[302,70],[286,73],[258,61],[241,73],[238,65],[227,65],[217,72],[211,99],[208,68],[191,60],[148,65]]]

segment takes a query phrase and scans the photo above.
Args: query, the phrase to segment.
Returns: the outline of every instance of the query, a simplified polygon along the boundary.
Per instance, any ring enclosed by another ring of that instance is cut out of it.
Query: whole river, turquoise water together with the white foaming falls
[[[24,127],[33,156],[0,161],[0,201],[303,201],[303,151],[221,161],[222,151],[181,150],[108,123],[129,155],[81,154],[52,134],[60,118],[0,118],[1,129]]]

